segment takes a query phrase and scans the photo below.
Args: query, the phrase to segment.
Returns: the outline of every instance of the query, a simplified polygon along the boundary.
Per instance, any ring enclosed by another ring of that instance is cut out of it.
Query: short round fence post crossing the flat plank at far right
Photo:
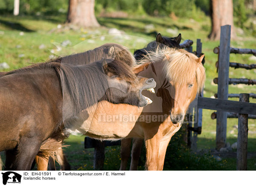
[[[241,93],[239,102],[249,102],[249,94]],[[247,171],[248,114],[238,115],[236,170]]]

